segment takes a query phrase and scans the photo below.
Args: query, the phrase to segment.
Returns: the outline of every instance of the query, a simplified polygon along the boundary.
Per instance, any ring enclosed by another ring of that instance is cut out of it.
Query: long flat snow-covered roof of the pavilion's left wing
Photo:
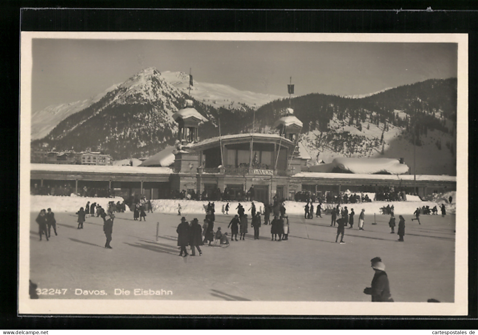
[[[31,171],[170,174],[169,167],[128,167],[114,165],[30,164]]]

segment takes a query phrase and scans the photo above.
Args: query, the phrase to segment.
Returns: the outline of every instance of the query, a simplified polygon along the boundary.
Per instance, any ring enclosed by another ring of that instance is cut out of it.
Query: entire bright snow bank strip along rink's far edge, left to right
[[[453,195],[452,195],[453,196]],[[418,198],[418,197],[417,197]],[[419,198],[418,198],[419,199]],[[42,209],[51,208],[53,212],[76,212],[80,207],[85,207],[87,201],[90,203],[96,202],[100,204],[103,208],[106,208],[108,201],[117,201],[122,202],[122,198],[84,198],[84,197],[57,197],[57,196],[45,196],[45,195],[32,195],[31,196],[31,211],[39,212]],[[191,201],[191,200],[152,200],[152,206],[154,212],[161,213],[177,213],[178,204],[181,204],[181,212],[185,214],[205,214],[206,206],[208,201]],[[214,201],[216,207],[216,213],[222,213],[223,206],[226,206],[227,201]],[[390,204],[394,206],[395,214],[413,214],[417,207],[422,206],[439,206],[439,204],[445,203],[445,208],[447,213],[456,212],[456,203],[449,204],[443,199],[438,201],[372,201],[372,202],[363,202],[363,203],[348,203],[344,206],[347,206],[348,210],[354,209],[354,211],[359,214],[359,212],[365,209],[366,214],[380,213],[380,208]],[[238,206],[238,201],[229,202],[229,213],[236,213],[236,207]],[[250,209],[251,202],[243,201],[241,204],[244,206],[246,213]],[[316,204],[314,204],[314,211],[316,210]],[[296,202],[296,201],[286,201],[285,208],[288,214],[293,215],[302,215],[304,214],[305,202]],[[326,207],[326,204],[322,205],[323,208]],[[256,202],[257,210],[263,211],[263,204]],[[126,211],[129,212],[128,206],[126,206]],[[250,214],[250,212],[249,212]]]

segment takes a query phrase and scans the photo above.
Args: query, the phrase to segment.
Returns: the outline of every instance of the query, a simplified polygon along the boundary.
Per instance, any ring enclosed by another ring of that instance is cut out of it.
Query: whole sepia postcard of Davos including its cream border
[[[22,32],[19,312],[466,315],[467,47]]]

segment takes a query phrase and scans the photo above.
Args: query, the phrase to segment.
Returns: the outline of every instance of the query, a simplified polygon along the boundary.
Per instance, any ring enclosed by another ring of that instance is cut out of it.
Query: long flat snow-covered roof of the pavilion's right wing
[[[343,174],[323,172],[299,172],[293,177],[320,178],[320,179],[381,179],[381,180],[413,180],[413,175],[371,175],[371,174]],[[455,176],[416,175],[417,181],[448,181],[456,182]]]

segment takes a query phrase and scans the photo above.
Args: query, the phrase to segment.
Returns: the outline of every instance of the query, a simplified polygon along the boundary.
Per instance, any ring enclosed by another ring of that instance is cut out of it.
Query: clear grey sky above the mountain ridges
[[[456,44],[33,39],[32,110],[85,100],[146,67],[287,95],[355,95],[456,77]]]

